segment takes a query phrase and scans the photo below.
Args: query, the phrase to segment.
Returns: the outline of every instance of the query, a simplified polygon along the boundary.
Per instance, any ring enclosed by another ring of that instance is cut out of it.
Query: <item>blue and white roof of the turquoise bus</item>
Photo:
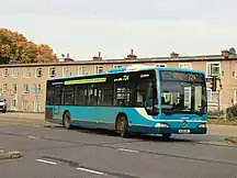
[[[187,68],[132,65],[132,66],[126,66],[126,67],[111,68],[108,73],[100,73],[100,74],[94,74],[94,75],[77,75],[77,76],[69,76],[69,77],[56,77],[56,78],[52,78],[48,80],[52,81],[52,80],[71,79],[71,78],[78,78],[78,77],[92,77],[92,76],[113,75],[113,74],[126,74],[128,71],[143,71],[143,70],[188,71],[188,73],[202,73],[205,75],[205,73],[202,70],[194,70],[194,69],[187,69]]]

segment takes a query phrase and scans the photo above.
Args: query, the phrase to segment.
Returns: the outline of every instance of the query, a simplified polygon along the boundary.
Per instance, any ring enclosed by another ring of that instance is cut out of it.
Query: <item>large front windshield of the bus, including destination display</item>
[[[202,74],[161,73],[161,110],[163,113],[206,113],[205,79]]]

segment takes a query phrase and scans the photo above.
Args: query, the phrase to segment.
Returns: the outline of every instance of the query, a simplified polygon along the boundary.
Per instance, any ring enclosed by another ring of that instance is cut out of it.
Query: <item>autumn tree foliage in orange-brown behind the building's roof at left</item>
[[[0,29],[0,58],[10,58],[10,63],[49,63],[58,62],[53,49],[26,40],[23,34]]]

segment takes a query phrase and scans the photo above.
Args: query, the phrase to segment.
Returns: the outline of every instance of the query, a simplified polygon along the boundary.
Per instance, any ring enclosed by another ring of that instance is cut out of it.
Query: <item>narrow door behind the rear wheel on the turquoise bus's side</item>
[[[61,104],[61,89],[59,86],[54,88],[54,119],[61,119],[60,104]]]

